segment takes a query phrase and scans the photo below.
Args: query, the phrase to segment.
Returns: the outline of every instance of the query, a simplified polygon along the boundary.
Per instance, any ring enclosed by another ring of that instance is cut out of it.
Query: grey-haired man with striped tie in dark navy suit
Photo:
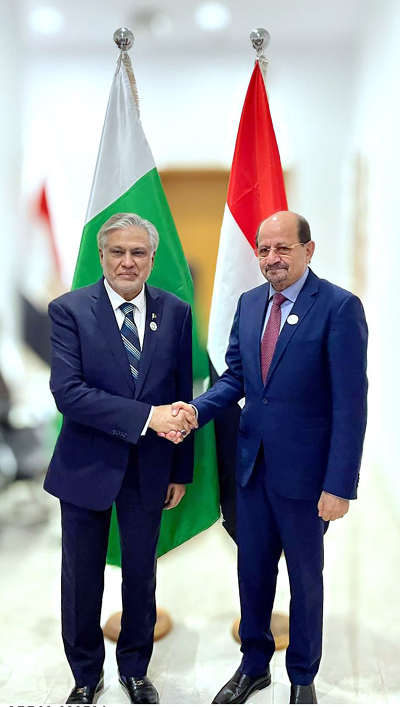
[[[145,285],[158,233],[136,214],[98,234],[104,273],[49,305],[50,387],[63,425],[45,479],[61,502],[62,635],[76,685],[68,703],[93,703],[103,686],[100,628],[112,503],[122,549],[119,682],[131,703],[157,703],[146,677],[155,625],[155,558],[163,508],[192,481],[193,443],[156,432],[196,426],[165,403],[192,397],[190,306]]]

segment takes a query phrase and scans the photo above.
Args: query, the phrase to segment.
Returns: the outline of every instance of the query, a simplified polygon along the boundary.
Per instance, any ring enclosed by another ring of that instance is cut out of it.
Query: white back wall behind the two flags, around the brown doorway
[[[71,279],[116,52],[32,55],[25,69],[25,192],[42,173]],[[230,167],[254,62],[245,54],[131,52],[141,119],[159,168]],[[314,268],[346,286],[343,160],[348,151],[353,55],[324,47],[269,54],[268,90],[290,208],[310,219]]]

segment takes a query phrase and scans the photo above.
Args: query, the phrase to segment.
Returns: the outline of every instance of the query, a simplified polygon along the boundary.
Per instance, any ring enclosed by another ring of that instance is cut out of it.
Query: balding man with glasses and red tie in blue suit
[[[323,537],[356,498],[367,415],[367,325],[360,300],[310,270],[305,218],[260,224],[269,284],[237,304],[228,370],[192,403],[199,426],[245,396],[237,440],[237,548],[243,658],[214,703],[242,703],[271,683],[278,560],[290,579],[290,703],[317,702]],[[173,411],[189,410],[177,403]],[[182,440],[170,433],[171,440]]]

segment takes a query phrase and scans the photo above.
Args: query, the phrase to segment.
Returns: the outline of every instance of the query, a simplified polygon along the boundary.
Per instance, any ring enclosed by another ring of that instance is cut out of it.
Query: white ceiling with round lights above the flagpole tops
[[[355,45],[378,0],[225,0],[230,25],[217,32],[196,27],[194,10],[201,0],[19,0],[23,39],[30,50],[76,52],[114,51],[112,34],[126,25],[136,36],[136,52],[181,52],[193,49],[242,52],[249,48],[249,33],[265,27],[271,51],[301,45]],[[28,27],[30,10],[51,5],[64,16],[59,35],[44,37]],[[163,13],[172,30],[157,37],[146,28],[146,16]],[[143,23],[144,17],[144,23]]]

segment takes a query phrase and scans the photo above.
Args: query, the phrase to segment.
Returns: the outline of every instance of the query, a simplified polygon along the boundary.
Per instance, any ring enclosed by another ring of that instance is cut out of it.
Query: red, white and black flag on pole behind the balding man
[[[228,198],[220,233],[211,313],[208,355],[211,380],[226,368],[230,328],[240,295],[265,282],[254,254],[259,223],[276,211],[286,211],[281,159],[264,78],[256,62],[243,105],[233,155]],[[215,421],[220,505],[223,525],[235,539],[235,448],[240,407],[235,404]]]

